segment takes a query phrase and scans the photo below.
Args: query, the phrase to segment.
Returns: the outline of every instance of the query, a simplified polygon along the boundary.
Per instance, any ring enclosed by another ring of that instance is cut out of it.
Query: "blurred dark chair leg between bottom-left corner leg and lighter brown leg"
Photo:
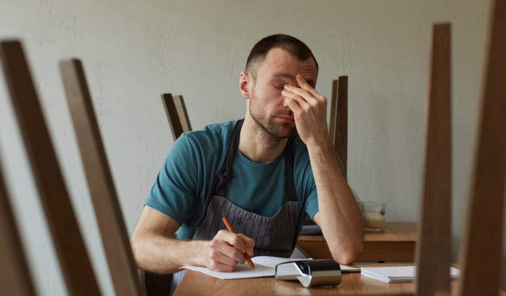
[[[0,57],[68,293],[100,295],[21,43],[0,42]]]

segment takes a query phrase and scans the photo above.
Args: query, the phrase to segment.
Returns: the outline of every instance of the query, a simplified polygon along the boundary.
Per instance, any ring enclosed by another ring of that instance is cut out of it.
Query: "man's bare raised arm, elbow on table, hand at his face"
[[[327,98],[297,75],[301,86],[285,85],[285,105],[294,115],[295,126],[307,145],[318,192],[319,211],[313,217],[321,227],[332,257],[352,263],[363,249],[363,219],[360,207],[339,168],[327,131]]]

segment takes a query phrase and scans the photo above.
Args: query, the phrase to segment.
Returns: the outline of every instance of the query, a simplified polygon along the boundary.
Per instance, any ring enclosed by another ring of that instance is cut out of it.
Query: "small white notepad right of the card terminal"
[[[362,267],[360,274],[384,283],[407,283],[415,280],[416,266]],[[450,278],[456,279],[461,271],[450,267]]]

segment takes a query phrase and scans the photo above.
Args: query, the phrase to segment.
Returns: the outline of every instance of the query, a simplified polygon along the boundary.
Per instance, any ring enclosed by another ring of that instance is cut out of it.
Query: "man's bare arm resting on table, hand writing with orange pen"
[[[135,227],[130,245],[137,266],[159,274],[176,272],[181,266],[205,266],[216,271],[233,271],[244,263],[244,253],[253,256],[255,242],[242,234],[221,230],[211,241],[179,240],[179,224],[148,206]]]

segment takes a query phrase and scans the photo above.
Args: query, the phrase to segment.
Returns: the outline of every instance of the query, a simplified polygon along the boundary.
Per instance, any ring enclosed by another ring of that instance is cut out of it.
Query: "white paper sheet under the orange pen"
[[[276,265],[283,262],[290,261],[298,261],[298,260],[311,260],[308,259],[293,259],[293,258],[280,258],[280,257],[272,257],[272,256],[257,256],[251,258],[251,261],[255,263],[255,270],[249,267],[248,263],[237,264],[236,268],[233,272],[219,272],[212,271],[206,267],[199,266],[183,266],[181,268],[191,269],[195,271],[203,272],[206,275],[222,279],[222,280],[232,280],[232,279],[249,279],[249,278],[262,278],[262,277],[273,277],[276,272]],[[179,268],[179,269],[181,269]],[[360,268],[353,268],[348,266],[341,265],[341,270],[343,272],[346,271],[360,271]]]

